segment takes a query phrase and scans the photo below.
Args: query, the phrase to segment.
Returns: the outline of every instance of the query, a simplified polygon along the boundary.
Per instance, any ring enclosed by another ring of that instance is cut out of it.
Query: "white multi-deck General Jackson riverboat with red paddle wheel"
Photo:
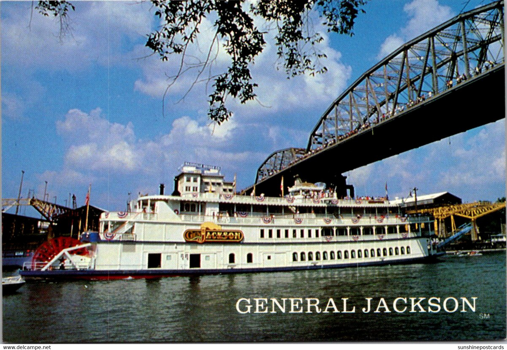
[[[387,198],[338,198],[295,180],[287,195],[239,195],[220,168],[186,163],[175,190],[105,212],[98,232],[46,242],[25,278],[120,279],[425,262],[432,221]]]

